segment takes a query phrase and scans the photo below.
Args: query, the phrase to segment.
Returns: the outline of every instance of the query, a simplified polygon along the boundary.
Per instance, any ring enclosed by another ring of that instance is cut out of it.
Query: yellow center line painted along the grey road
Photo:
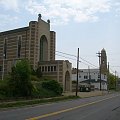
[[[114,98],[114,97],[117,97],[117,96],[120,96],[120,95],[116,95],[116,96],[105,98],[105,99],[98,100],[98,101],[95,101],[95,102],[91,102],[91,103],[79,105],[79,106],[76,106],[76,107],[60,110],[60,111],[57,111],[57,112],[52,112],[52,113],[40,115],[40,116],[29,118],[29,119],[26,119],[26,120],[38,120],[38,119],[41,119],[41,118],[46,118],[46,117],[58,115],[60,113],[64,113],[64,112],[68,112],[68,111],[75,110],[75,109],[78,109],[78,108],[82,108],[82,107],[85,107],[85,106],[93,105],[93,104],[96,104],[96,103],[99,103],[99,102],[102,102],[102,101],[105,101],[105,100],[108,100],[108,99],[111,99],[111,98]]]

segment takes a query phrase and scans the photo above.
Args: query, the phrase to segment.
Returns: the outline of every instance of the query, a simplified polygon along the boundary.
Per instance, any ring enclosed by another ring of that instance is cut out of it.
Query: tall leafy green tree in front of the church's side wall
[[[32,93],[32,83],[30,79],[31,68],[27,59],[17,61],[12,67],[9,86],[13,96],[30,96]]]

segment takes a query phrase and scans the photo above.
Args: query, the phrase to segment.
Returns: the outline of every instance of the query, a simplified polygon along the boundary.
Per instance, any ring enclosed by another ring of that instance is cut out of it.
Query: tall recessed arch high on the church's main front
[[[40,61],[48,60],[48,42],[45,35],[40,38]]]

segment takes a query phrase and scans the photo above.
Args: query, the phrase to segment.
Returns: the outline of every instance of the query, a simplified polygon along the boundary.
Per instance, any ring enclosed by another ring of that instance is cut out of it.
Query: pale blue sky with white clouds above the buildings
[[[76,67],[79,48],[79,68],[92,69],[104,48],[110,71],[120,77],[120,0],[0,0],[0,32],[28,26],[39,13],[56,32],[56,59]]]

